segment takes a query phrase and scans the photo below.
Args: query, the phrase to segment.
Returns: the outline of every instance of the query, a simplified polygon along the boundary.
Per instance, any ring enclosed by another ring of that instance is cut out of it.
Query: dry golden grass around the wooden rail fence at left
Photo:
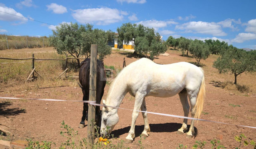
[[[59,55],[54,52],[54,48],[34,48],[34,49],[20,49],[20,50],[2,50],[1,57],[9,58],[31,58],[32,52],[35,53],[36,59],[63,59],[65,55]],[[57,79],[63,72],[65,61],[35,61],[35,70],[39,73],[40,78],[36,73],[37,80],[34,82],[25,82],[28,75],[32,71],[31,60],[25,63],[10,63],[17,62],[17,60],[0,59],[0,90],[5,90],[8,87],[9,92],[21,90],[35,90],[40,87],[49,86],[77,86],[76,79]],[[6,63],[6,64],[1,64]],[[76,63],[76,60],[69,59],[69,65]],[[76,64],[77,65],[77,64]],[[69,67],[71,69],[71,67]],[[78,76],[78,72],[71,69],[67,72],[68,76]]]

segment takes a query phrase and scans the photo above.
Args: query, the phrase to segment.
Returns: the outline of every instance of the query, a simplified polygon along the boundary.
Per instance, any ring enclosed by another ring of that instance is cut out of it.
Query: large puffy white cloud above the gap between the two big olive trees
[[[97,25],[108,25],[124,19],[122,11],[107,7],[74,10],[72,16],[79,23],[96,23]]]

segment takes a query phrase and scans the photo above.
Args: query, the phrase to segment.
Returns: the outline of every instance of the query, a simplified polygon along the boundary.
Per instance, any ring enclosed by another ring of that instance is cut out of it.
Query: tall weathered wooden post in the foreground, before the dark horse
[[[97,48],[96,44],[91,45],[91,64],[90,64],[90,88],[89,88],[89,101],[96,101],[96,77],[97,77]],[[88,109],[88,125],[87,136],[88,143],[87,148],[92,149],[94,145],[94,121],[95,121],[95,106],[89,105]]]

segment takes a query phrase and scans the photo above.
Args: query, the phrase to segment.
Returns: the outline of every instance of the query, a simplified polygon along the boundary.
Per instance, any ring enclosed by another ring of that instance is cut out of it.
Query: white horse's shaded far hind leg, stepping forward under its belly
[[[188,97],[187,91],[184,91],[182,93],[180,92],[179,96],[180,96],[180,102],[183,107],[184,116],[188,117],[189,116],[189,102],[188,102],[188,98],[187,98]],[[182,126],[177,131],[177,134],[184,134],[184,131],[187,130],[187,122],[188,122],[188,119],[184,118]]]

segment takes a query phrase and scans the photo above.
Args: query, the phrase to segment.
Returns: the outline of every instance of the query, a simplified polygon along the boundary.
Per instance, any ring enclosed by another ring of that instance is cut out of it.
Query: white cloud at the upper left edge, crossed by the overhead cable
[[[0,11],[5,12],[5,13],[0,12],[0,20],[2,21],[20,21],[20,23],[26,23],[28,21],[28,19],[22,18],[24,16],[21,13],[18,13],[13,8],[4,6],[4,4],[1,4],[1,3],[0,3]],[[9,15],[7,13],[12,15]]]

